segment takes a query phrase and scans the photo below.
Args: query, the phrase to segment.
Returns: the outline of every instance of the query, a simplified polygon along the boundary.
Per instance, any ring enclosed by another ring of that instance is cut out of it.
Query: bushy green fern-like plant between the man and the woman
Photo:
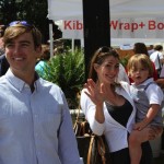
[[[40,77],[58,84],[69,103],[70,108],[79,105],[78,94],[84,83],[84,54],[77,49],[74,52],[67,50],[50,58],[48,66]]]

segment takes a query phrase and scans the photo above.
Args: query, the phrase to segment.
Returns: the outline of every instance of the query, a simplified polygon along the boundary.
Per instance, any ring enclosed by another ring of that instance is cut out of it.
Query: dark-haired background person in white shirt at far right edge
[[[155,65],[155,70],[157,72],[157,78],[160,78],[162,66],[164,63],[164,56],[163,56],[162,51],[163,51],[163,46],[162,45],[156,45],[154,47],[154,52],[151,54],[151,56],[150,56],[150,59]]]

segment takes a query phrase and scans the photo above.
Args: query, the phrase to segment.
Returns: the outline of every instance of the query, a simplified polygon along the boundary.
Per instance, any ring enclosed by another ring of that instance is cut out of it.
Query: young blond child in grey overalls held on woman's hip
[[[131,164],[139,164],[142,155],[141,144],[149,140],[150,128],[162,131],[163,91],[153,81],[150,58],[134,55],[128,61],[128,72],[133,83],[130,93],[137,107],[137,124],[129,137]],[[162,132],[161,132],[162,133]]]

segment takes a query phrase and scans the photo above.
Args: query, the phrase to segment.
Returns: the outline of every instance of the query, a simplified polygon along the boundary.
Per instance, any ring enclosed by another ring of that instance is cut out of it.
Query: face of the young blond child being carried
[[[143,83],[149,78],[149,69],[138,63],[136,68],[131,69],[130,78],[137,85]]]

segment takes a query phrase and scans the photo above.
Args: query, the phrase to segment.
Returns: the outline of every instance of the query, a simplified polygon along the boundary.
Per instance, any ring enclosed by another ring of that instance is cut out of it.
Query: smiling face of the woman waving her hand
[[[101,83],[112,84],[118,77],[119,60],[113,56],[107,57],[102,65],[94,65]]]

